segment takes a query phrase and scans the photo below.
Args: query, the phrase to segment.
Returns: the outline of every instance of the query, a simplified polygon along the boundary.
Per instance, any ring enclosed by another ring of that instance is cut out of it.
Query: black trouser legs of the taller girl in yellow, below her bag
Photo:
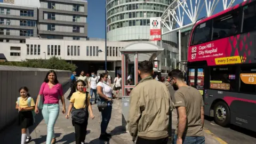
[[[76,144],[81,144],[84,142],[87,133],[87,124],[88,122],[85,122],[84,124],[78,124],[74,122]]]

